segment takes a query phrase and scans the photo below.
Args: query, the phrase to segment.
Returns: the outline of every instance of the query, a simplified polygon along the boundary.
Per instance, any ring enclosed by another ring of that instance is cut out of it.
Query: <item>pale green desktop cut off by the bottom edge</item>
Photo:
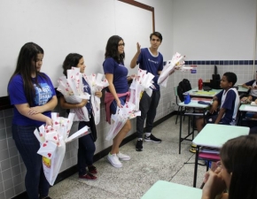
[[[199,188],[191,188],[169,181],[158,180],[141,199],[199,199],[201,195],[202,190]]]

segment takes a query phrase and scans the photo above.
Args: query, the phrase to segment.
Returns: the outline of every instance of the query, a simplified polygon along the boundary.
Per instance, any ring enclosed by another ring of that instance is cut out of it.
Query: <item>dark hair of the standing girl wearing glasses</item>
[[[106,48],[105,48],[105,58],[113,57],[113,59],[118,63],[124,63],[125,52],[119,54],[118,44],[120,41],[123,41],[121,36],[113,35],[109,38]]]

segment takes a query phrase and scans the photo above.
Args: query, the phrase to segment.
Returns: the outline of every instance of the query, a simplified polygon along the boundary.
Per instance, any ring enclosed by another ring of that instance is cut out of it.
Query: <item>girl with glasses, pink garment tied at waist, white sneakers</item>
[[[105,93],[106,120],[110,123],[111,113],[115,114],[117,107],[126,102],[128,96],[128,69],[124,66],[125,43],[118,35],[109,38],[105,48],[104,72],[109,82]],[[113,147],[108,154],[109,162],[116,168],[122,166],[120,160],[129,160],[128,155],[122,154],[119,150],[120,144],[131,129],[130,121],[127,120],[121,131],[113,138]]]

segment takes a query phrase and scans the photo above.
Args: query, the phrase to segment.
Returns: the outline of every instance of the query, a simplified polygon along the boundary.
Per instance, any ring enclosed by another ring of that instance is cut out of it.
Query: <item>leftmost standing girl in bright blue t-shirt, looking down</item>
[[[40,143],[34,131],[43,124],[52,126],[51,111],[57,105],[57,97],[50,78],[40,72],[42,64],[43,49],[27,42],[19,51],[8,94],[13,105],[12,138],[27,168],[27,195],[50,199],[50,185],[44,177],[42,156],[37,154]]]

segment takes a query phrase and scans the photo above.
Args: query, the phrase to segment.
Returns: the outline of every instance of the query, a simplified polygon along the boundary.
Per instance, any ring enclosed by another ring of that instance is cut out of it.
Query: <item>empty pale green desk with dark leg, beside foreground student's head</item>
[[[228,140],[249,134],[249,127],[245,126],[230,126],[230,125],[214,125],[206,124],[201,132],[192,141],[197,145],[196,157],[195,157],[195,168],[194,168],[194,180],[193,187],[196,187],[197,183],[197,171],[198,171],[198,159],[199,159],[199,147],[214,147],[222,148],[222,145]]]

